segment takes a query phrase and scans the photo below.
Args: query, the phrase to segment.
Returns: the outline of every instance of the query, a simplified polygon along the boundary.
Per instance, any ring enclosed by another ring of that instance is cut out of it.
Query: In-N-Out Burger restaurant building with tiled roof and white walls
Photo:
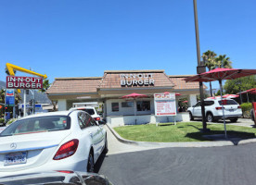
[[[98,102],[103,118],[112,126],[173,121],[173,117],[155,117],[154,93],[180,93],[188,105],[197,103],[198,82],[186,83],[188,75],[165,74],[164,70],[106,70],[103,77],[57,78],[48,89],[48,97],[58,102],[58,110],[68,110],[73,103]],[[122,99],[130,93],[146,98]],[[134,107],[135,106],[135,107]],[[178,112],[177,121],[188,121],[186,112]]]

